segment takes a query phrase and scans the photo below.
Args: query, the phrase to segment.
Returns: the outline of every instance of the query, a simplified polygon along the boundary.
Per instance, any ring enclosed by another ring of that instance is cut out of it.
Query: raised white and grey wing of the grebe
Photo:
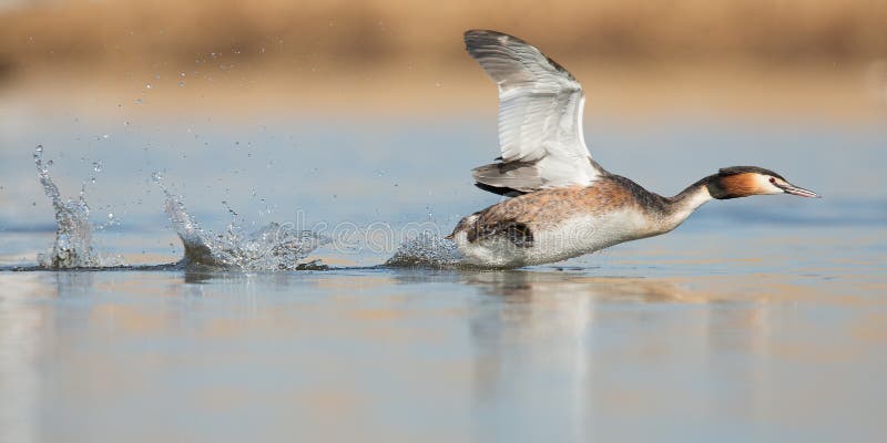
[[[582,134],[582,85],[521,39],[471,30],[465,44],[499,86],[501,162],[473,169],[478,186],[497,194],[589,185],[604,171]]]

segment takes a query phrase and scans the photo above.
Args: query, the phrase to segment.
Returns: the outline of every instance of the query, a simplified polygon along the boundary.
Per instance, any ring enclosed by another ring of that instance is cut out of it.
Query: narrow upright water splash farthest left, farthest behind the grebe
[[[34,150],[37,176],[43,186],[43,193],[52,202],[55,210],[55,243],[47,254],[39,254],[40,266],[52,269],[99,267],[102,262],[92,250],[92,227],[90,226],[90,207],[85,200],[85,189],[80,188],[77,200],[64,200],[59,187],[49,174],[51,161],[43,162],[43,146]]]

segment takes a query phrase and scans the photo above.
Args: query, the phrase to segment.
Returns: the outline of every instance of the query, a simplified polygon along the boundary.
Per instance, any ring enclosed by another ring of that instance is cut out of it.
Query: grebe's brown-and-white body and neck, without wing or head
[[[463,218],[451,238],[470,265],[561,261],[667,233],[711,198],[701,184],[666,198],[608,174],[591,186],[543,189],[490,206]]]

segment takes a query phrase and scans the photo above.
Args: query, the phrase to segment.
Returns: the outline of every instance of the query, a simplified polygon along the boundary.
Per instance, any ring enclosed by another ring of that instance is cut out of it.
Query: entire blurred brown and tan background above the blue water
[[[495,106],[462,51],[470,28],[537,44],[614,112],[881,119],[887,103],[887,1],[0,4],[0,92],[96,107],[121,95],[171,112]]]

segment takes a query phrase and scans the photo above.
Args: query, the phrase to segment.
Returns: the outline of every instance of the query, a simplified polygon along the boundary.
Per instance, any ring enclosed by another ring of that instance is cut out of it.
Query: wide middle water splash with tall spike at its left
[[[318,247],[330,243],[328,237],[278,223],[271,223],[249,234],[232,223],[224,233],[215,234],[194,220],[182,200],[163,186],[160,174],[155,173],[152,177],[166,196],[166,215],[185,248],[183,265],[265,271],[325,268],[319,261],[302,260]]]

